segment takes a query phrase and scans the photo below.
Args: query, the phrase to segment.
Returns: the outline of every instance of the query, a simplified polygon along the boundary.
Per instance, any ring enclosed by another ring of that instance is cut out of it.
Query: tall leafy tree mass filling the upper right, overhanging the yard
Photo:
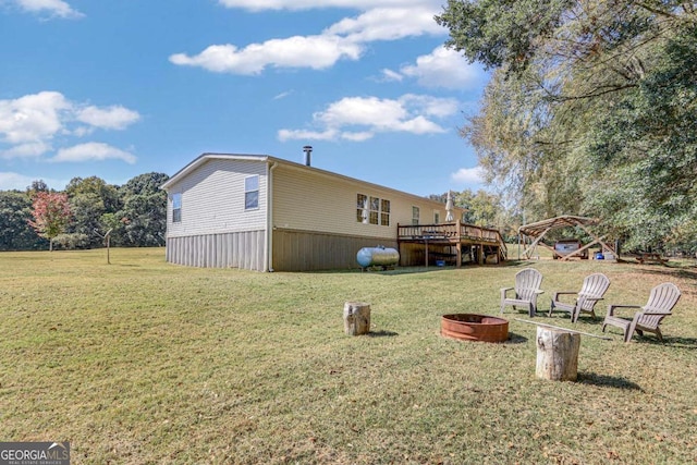
[[[449,0],[436,20],[492,73],[461,134],[518,216],[697,249],[694,1]]]

